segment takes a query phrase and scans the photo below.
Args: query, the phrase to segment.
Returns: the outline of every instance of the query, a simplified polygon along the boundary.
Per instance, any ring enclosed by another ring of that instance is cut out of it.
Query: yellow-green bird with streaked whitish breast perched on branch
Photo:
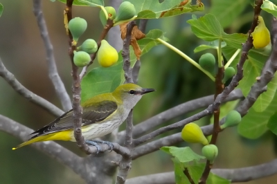
[[[129,112],[145,93],[154,89],[143,89],[136,84],[122,84],[111,93],[96,95],[81,104],[82,106],[82,136],[88,145],[94,145],[97,153],[100,147],[97,143],[105,143],[112,149],[111,142],[93,140],[105,136],[118,128],[127,118]],[[73,109],[62,114],[48,125],[34,131],[26,142],[19,147],[30,145],[33,142],[48,140],[70,140],[75,142],[73,131]]]

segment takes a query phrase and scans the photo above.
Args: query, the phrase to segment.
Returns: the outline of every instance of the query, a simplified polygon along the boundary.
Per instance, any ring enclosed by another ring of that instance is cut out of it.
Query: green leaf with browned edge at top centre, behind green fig
[[[158,0],[126,0],[134,4],[137,19],[158,19],[162,17],[172,17],[186,12],[203,11],[204,6],[196,6],[188,0],[184,6],[179,6],[180,0],[165,0],[159,3]]]

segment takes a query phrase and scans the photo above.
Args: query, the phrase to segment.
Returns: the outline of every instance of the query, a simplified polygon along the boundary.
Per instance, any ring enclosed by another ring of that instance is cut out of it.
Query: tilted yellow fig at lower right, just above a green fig
[[[183,138],[186,142],[208,145],[208,140],[204,136],[202,129],[200,129],[200,127],[193,122],[185,125],[184,129],[181,131],[181,138]]]

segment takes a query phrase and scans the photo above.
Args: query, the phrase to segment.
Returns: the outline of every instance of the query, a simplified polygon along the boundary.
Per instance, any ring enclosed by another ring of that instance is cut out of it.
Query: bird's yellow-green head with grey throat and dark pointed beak
[[[127,109],[132,109],[139,100],[141,100],[142,95],[155,91],[154,89],[143,89],[141,86],[136,84],[123,84],[118,86],[112,95],[117,100],[123,102],[123,105]]]

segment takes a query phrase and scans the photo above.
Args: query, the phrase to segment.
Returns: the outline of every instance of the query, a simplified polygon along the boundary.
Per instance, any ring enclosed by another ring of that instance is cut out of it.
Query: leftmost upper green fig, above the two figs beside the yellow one
[[[79,37],[87,29],[87,21],[80,17],[75,17],[69,21],[69,30],[75,42],[78,42]]]

